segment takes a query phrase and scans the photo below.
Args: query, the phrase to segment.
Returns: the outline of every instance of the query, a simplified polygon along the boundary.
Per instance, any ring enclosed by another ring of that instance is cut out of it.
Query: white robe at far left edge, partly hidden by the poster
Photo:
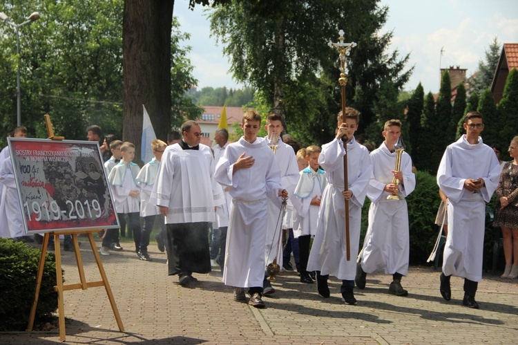
[[[25,236],[20,199],[10,155],[0,162],[0,182],[3,183],[2,203],[0,205],[0,236],[10,239]]]

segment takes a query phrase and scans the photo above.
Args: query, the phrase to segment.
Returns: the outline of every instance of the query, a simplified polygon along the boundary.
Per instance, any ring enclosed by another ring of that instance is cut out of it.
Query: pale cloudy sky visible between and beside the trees
[[[181,30],[191,34],[186,44],[193,48],[190,58],[198,88],[242,87],[228,72],[222,46],[210,37],[203,8],[196,6],[191,11],[188,4],[188,0],[175,1],[173,15],[178,17]],[[439,91],[439,64],[442,68],[468,68],[468,76],[472,75],[495,36],[500,44],[518,43],[517,0],[381,0],[380,6],[389,6],[381,33],[393,30],[390,51],[398,49],[400,57],[410,53],[407,68],[415,66],[405,85],[407,90],[414,90],[421,82],[425,93]]]

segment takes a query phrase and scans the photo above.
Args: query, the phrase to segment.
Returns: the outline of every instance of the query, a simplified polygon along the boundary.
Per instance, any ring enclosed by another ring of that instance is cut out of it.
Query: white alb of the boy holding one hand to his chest
[[[252,156],[252,167],[234,171],[241,154]],[[232,196],[223,283],[238,288],[262,287],[268,200],[279,203],[280,169],[265,140],[244,138],[229,144],[215,168],[215,179]]]

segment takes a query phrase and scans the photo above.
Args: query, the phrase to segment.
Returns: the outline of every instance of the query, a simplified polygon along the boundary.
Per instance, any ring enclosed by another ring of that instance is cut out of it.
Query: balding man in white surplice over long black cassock
[[[193,272],[211,272],[209,223],[224,197],[212,177],[212,151],[200,144],[200,125],[189,120],[181,130],[182,140],[164,150],[149,203],[165,216],[169,275],[188,286],[197,281]]]

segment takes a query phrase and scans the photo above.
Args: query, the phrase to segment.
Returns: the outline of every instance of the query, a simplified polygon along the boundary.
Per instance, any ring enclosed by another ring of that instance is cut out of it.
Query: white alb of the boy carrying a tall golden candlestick
[[[387,200],[390,193],[383,189],[392,183],[392,170],[396,168],[396,153],[390,152],[381,143],[370,154],[372,175],[367,196],[372,202],[369,209],[369,226],[363,241],[361,265],[365,272],[378,270],[385,274],[396,272],[407,275],[410,254],[410,234],[408,230],[408,210],[405,197],[414,191],[416,178],[412,172],[412,159],[403,152],[400,171],[403,185],[399,185],[398,195],[403,200]]]

